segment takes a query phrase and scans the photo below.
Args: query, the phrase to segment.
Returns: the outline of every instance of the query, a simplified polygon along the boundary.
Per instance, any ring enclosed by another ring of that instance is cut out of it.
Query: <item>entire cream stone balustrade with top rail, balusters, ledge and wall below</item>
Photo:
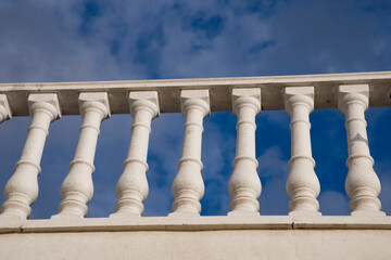
[[[391,255],[391,217],[380,211],[380,182],[373,169],[364,117],[369,103],[391,106],[391,73],[0,87],[1,120],[11,112],[12,116],[29,113],[33,117],[21,160],[4,191],[0,259],[389,259]],[[285,108],[292,119],[289,216],[257,213],[261,183],[254,119],[261,104],[263,110]],[[112,214],[116,218],[85,219],[93,192],[99,126],[111,113],[128,114],[129,106],[135,120],[117,185],[116,213]],[[314,107],[338,107],[346,117],[345,186],[352,216],[319,216],[308,119]],[[84,118],[75,159],[62,188],[60,212],[64,218],[60,213],[50,220],[27,220],[38,195],[37,176],[48,129],[61,110]],[[229,185],[229,216],[235,218],[200,217],[202,123],[211,110],[234,110],[238,116]],[[173,184],[173,218],[128,218],[139,217],[143,210],[150,125],[160,112],[181,112],[186,117]]]

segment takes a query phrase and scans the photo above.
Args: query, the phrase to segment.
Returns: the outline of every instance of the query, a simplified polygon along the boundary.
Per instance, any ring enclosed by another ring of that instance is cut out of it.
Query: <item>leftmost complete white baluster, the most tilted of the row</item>
[[[60,118],[60,105],[56,94],[30,94],[28,96],[29,114],[33,118],[20,161],[15,172],[4,188],[5,202],[3,214],[29,217],[30,205],[38,197],[38,180],[45,141],[49,134],[49,126]]]

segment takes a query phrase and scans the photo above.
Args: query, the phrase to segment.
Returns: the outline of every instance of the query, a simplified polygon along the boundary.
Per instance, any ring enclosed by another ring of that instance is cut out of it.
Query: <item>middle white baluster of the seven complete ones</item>
[[[187,213],[199,216],[200,200],[204,194],[201,176],[201,144],[203,118],[210,114],[207,90],[182,90],[181,110],[186,117],[181,157],[178,173],[173,183],[173,211],[171,216]]]

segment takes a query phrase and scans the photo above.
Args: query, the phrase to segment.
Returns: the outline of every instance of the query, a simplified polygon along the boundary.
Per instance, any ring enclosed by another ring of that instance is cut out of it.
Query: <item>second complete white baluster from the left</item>
[[[59,214],[52,218],[83,218],[93,195],[92,173],[100,123],[110,117],[108,93],[80,93],[79,109],[83,117],[75,157],[70,173],[61,185],[62,202]]]

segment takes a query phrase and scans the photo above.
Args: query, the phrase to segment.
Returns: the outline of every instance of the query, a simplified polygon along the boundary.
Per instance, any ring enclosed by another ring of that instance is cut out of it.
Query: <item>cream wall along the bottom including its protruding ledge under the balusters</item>
[[[391,256],[389,217],[31,220],[22,226],[16,233],[0,234],[0,259],[386,260]]]

